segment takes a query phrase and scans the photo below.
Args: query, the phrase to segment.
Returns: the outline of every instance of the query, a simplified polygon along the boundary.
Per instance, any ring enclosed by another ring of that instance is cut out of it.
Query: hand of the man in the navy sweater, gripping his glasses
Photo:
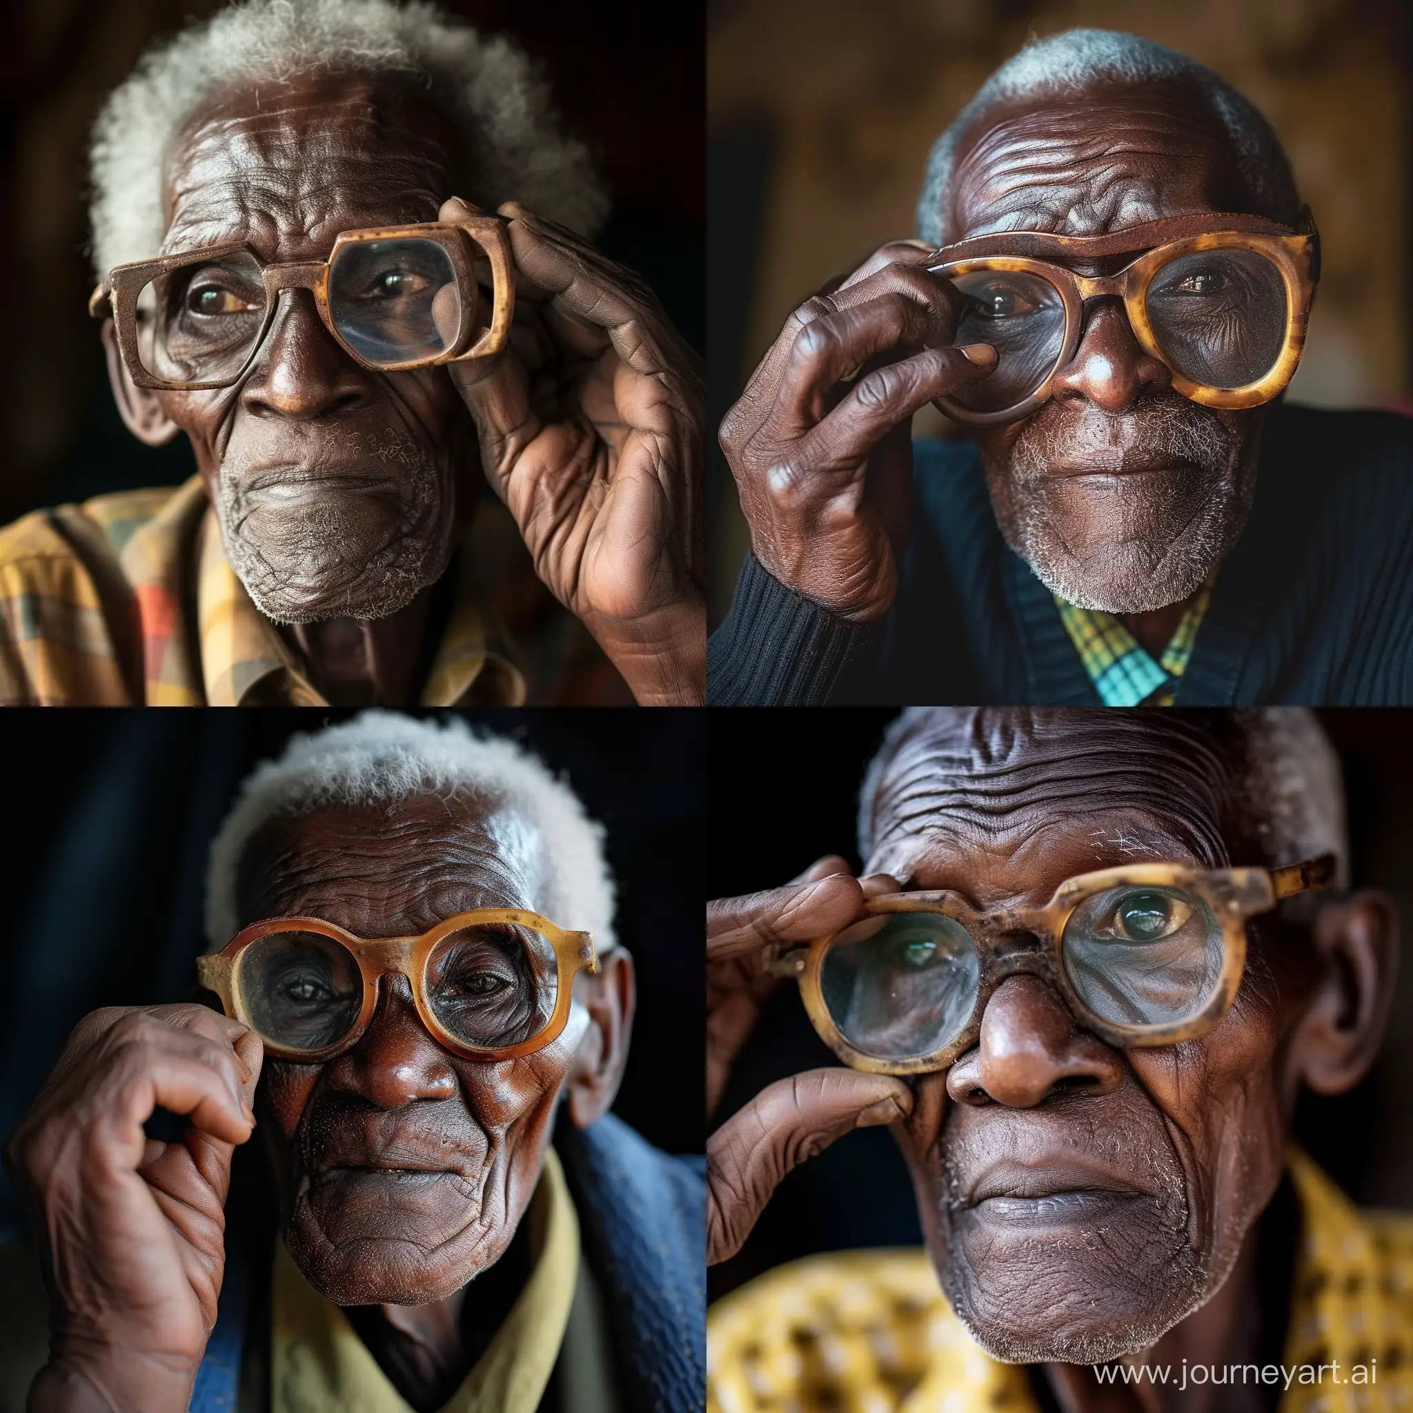
[[[859,623],[897,593],[913,413],[996,366],[988,343],[950,348],[961,297],[923,268],[931,259],[894,242],[803,304],[721,424],[756,558]]]

